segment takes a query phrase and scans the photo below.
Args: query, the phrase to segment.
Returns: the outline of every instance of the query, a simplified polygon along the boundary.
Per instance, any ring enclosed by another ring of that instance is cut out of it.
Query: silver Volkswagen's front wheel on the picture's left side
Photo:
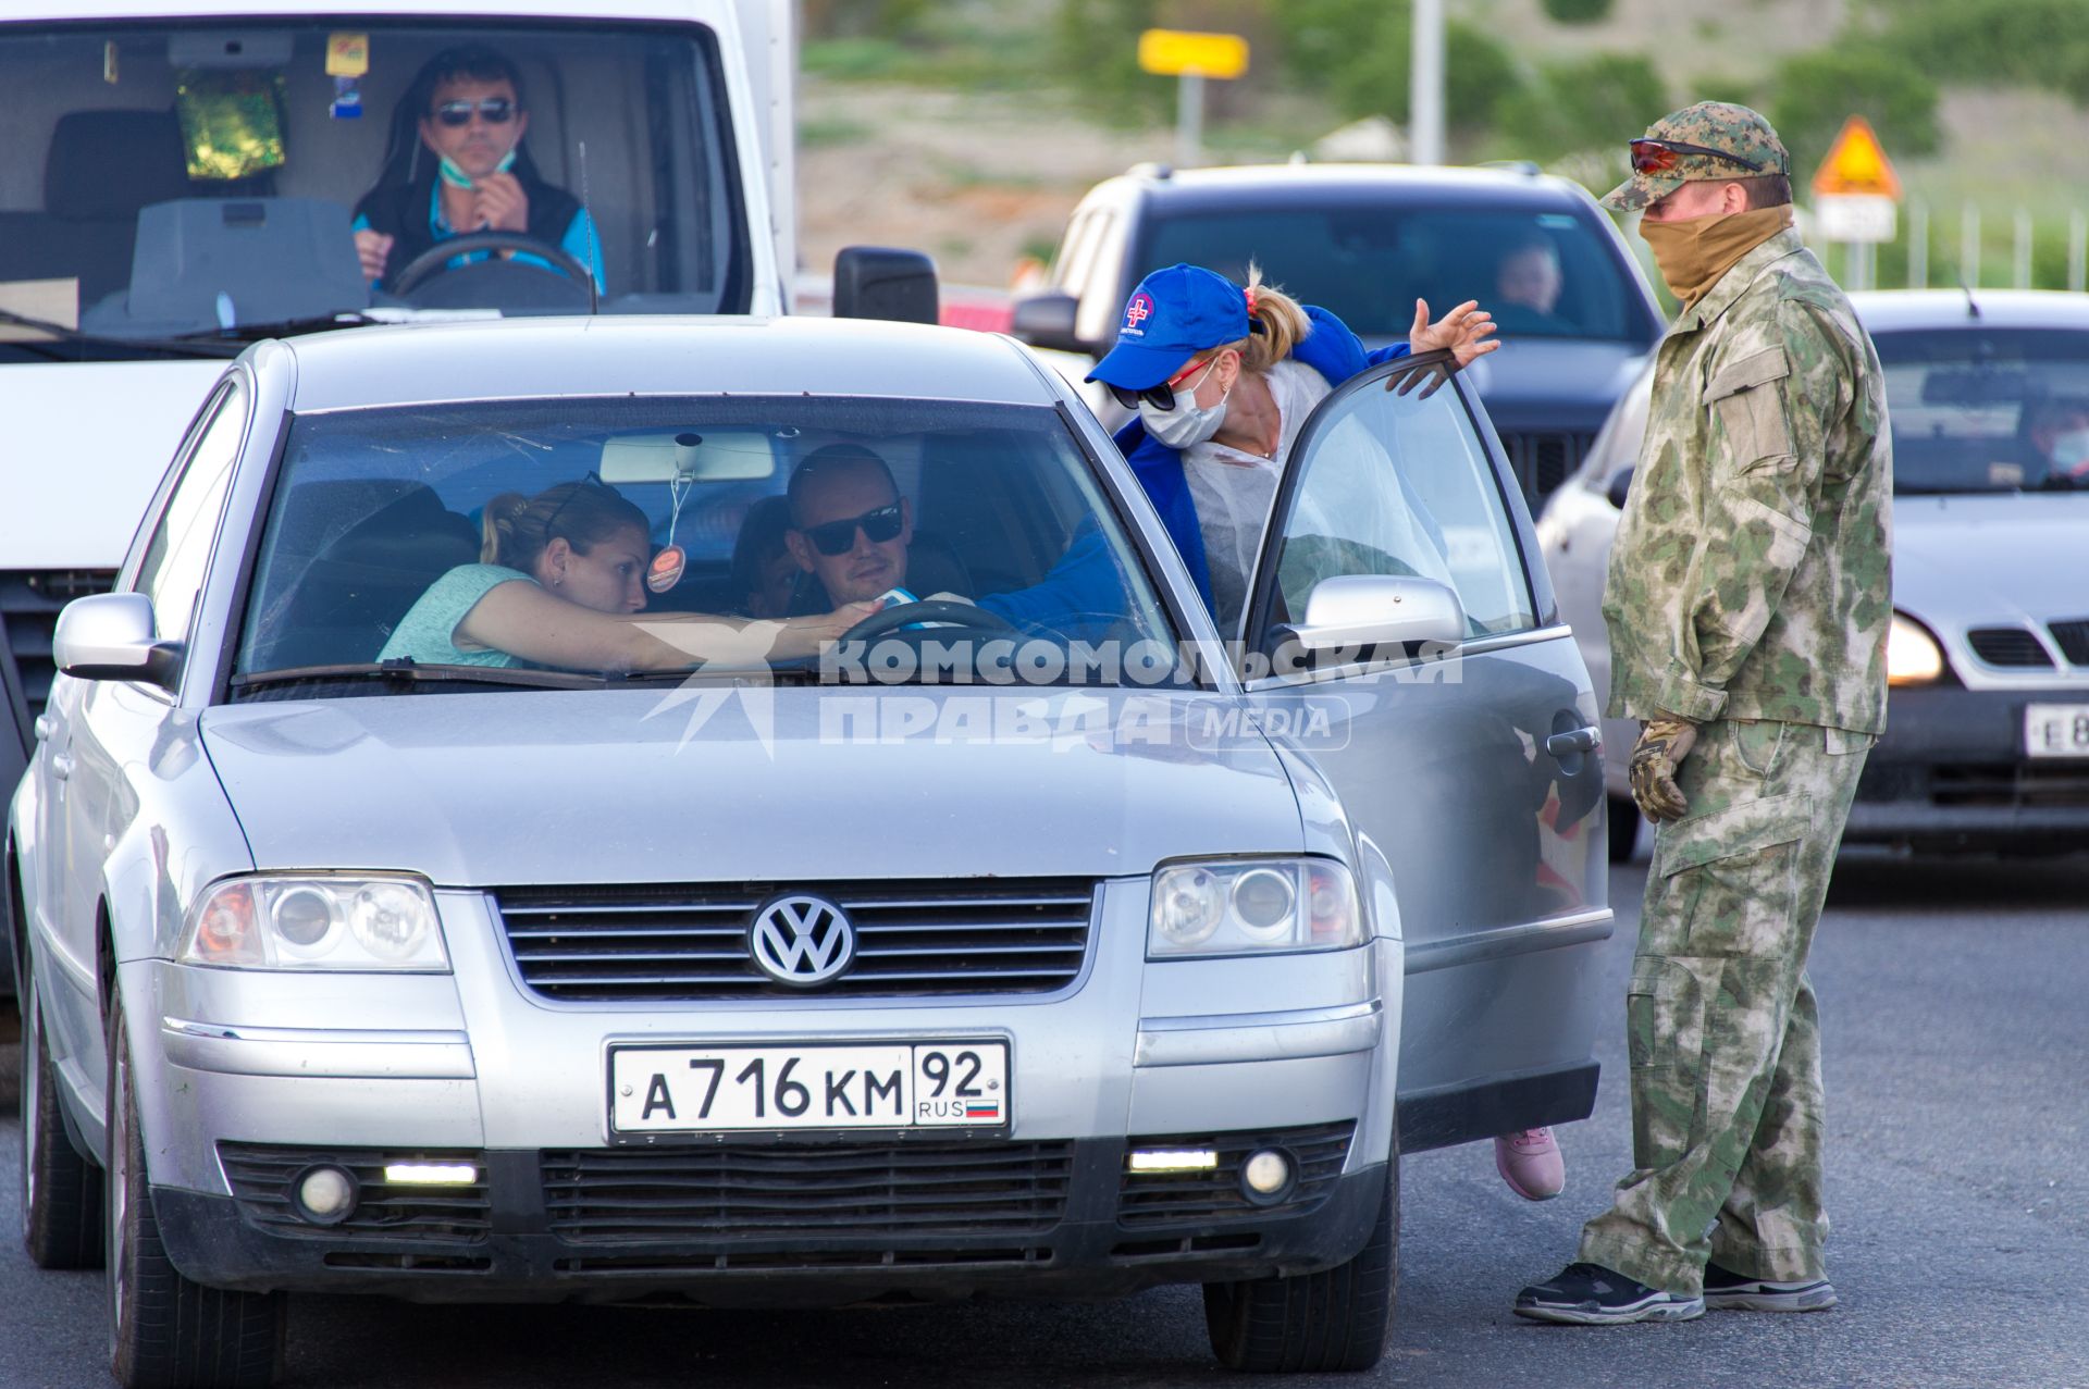
[[[109,1009],[109,1360],[125,1389],[265,1389],[282,1356],[282,1295],[190,1282],[152,1216],[123,1009]]]

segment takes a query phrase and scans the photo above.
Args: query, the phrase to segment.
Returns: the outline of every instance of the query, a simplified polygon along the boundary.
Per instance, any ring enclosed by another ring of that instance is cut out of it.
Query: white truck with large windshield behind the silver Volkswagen
[[[0,790],[33,746],[58,608],[111,585],[247,343],[457,315],[790,309],[790,0],[315,8],[0,8]],[[437,111],[445,92],[474,100]],[[503,171],[531,194],[522,230],[476,251],[470,228],[451,236],[441,188],[462,169],[437,157],[443,121],[520,130]],[[401,236],[372,282],[355,232],[386,217]],[[934,299],[925,257],[852,249],[836,265],[836,313],[934,322]],[[8,915],[0,902],[0,929]]]

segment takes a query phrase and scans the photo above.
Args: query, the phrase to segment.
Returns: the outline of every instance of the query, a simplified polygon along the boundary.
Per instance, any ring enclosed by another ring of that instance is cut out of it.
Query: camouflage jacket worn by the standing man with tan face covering
[[[1790,228],[1669,328],[1611,549],[1611,716],[1886,727],[1886,382]]]

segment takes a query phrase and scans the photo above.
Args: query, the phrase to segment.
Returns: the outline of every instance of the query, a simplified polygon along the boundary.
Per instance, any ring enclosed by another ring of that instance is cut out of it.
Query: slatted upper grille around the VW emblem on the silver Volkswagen
[[[1049,994],[1080,978],[1088,879],[815,884],[856,927],[848,969],[779,984],[748,950],[769,884],[503,888],[495,892],[522,982],[549,998],[902,998]]]

